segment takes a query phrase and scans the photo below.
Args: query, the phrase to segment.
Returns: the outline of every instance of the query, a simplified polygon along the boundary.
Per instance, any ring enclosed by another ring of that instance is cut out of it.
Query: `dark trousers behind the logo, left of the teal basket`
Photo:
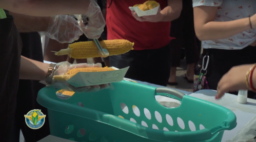
[[[23,43],[22,55],[43,62],[41,36],[38,32],[20,33],[20,35]],[[43,87],[45,85],[39,83],[37,80],[19,79],[16,97],[17,106],[10,142],[19,142],[19,133],[21,130],[26,142],[36,142],[50,134],[47,108],[41,106],[36,101],[37,93]],[[40,109],[46,115],[44,126],[37,130],[29,128],[24,117],[24,115],[33,109]]]

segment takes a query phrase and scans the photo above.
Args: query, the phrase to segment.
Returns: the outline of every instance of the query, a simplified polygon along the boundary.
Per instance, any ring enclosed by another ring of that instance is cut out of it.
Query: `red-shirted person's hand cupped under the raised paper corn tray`
[[[142,16],[139,17],[136,12],[131,12],[133,17],[140,22],[161,22],[164,15],[161,13],[161,8],[159,7],[156,15],[148,15],[148,16]]]

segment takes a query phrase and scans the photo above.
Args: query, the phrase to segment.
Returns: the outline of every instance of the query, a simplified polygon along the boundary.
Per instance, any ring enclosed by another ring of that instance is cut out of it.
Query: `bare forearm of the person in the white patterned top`
[[[208,22],[196,28],[196,36],[202,40],[225,39],[250,29],[249,18],[237,19],[228,22]]]

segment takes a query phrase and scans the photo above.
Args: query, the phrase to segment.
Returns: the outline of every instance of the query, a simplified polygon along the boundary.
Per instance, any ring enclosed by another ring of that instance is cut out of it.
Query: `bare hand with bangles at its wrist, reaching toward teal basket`
[[[251,66],[251,64],[235,66],[223,75],[218,84],[217,95],[215,98],[221,98],[227,92],[247,90],[245,77]]]

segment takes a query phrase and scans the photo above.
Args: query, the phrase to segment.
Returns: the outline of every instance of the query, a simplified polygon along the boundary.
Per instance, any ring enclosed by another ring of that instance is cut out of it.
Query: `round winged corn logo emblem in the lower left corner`
[[[41,110],[31,110],[24,116],[27,126],[31,129],[39,129],[45,124],[46,115]]]

